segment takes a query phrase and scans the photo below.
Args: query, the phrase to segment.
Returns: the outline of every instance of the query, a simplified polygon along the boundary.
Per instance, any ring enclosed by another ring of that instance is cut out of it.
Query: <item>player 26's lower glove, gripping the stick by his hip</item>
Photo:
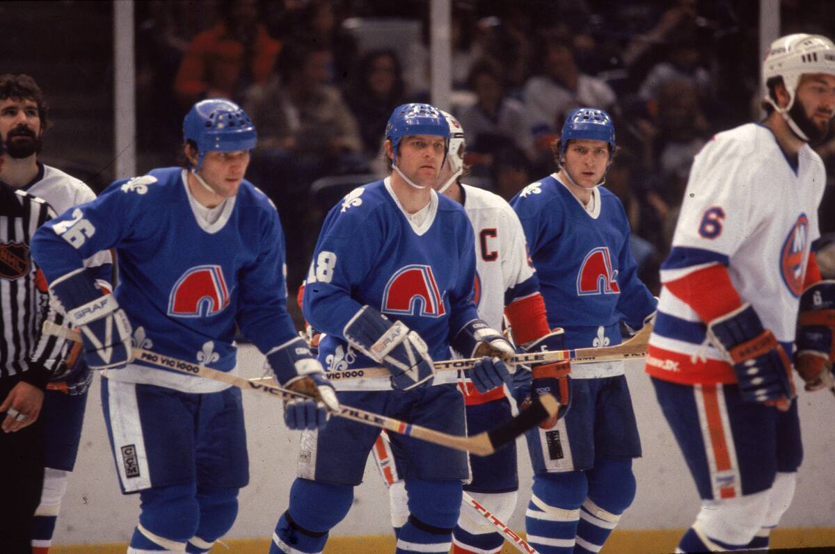
[[[320,429],[330,412],[339,410],[336,391],[301,337],[267,352],[266,369],[272,371],[279,385],[311,396],[285,403],[284,422],[290,429]]]

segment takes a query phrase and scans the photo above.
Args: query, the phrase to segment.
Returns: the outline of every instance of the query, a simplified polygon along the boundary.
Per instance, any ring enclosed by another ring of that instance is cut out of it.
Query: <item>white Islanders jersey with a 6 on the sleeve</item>
[[[751,303],[762,325],[777,340],[791,343],[810,245],[820,236],[817,207],[825,184],[822,160],[808,145],[800,149],[794,167],[761,124],[718,133],[696,155],[661,280],[725,264],[734,288],[743,302]],[[719,375],[732,380],[730,365],[724,371],[709,369],[726,359],[706,345],[706,325],[689,305],[664,288],[658,312],[651,357],[707,360],[686,370],[704,375],[673,375],[682,369],[672,370],[671,364],[648,365],[650,375],[682,382],[725,380]]]

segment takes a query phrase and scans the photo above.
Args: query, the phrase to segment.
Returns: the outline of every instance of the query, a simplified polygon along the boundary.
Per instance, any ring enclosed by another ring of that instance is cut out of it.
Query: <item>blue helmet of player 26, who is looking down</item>
[[[238,104],[225,98],[201,100],[191,107],[183,119],[183,142],[197,145],[197,165],[212,150],[236,152],[256,147],[256,126]]]

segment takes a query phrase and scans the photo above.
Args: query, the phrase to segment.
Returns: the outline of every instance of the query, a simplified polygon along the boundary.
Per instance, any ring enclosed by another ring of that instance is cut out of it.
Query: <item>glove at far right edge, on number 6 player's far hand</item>
[[[797,373],[806,390],[832,388],[835,361],[835,280],[815,283],[800,297],[797,321]]]

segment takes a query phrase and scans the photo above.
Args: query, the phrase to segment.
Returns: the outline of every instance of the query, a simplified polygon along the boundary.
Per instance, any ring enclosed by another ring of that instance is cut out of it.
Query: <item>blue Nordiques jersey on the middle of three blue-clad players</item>
[[[319,345],[326,369],[379,365],[349,348],[342,335],[363,305],[416,331],[434,360],[447,360],[449,340],[478,318],[473,228],[463,208],[433,191],[428,217],[415,227],[386,183],[347,194],[327,214],[319,234],[305,282],[304,315],[326,333]]]

